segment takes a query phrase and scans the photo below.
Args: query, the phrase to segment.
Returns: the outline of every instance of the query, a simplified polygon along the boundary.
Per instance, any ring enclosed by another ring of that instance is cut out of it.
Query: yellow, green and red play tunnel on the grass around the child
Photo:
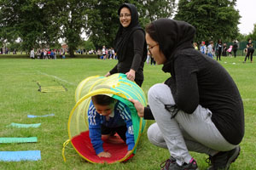
[[[129,107],[135,141],[130,156],[125,156],[127,145],[117,134],[110,139],[103,140],[103,149],[108,151],[112,156],[110,158],[96,156],[96,152],[90,143],[87,118],[90,97],[96,94],[106,94],[114,99],[118,99]],[[69,141],[71,141],[73,148],[79,153],[79,156],[92,163],[113,163],[126,161],[136,153],[137,144],[146,122],[143,118],[137,116],[134,105],[128,99],[137,99],[143,105],[146,105],[146,98],[142,88],[137,86],[135,82],[129,81],[125,74],[114,74],[110,77],[87,77],[79,83],[75,92],[76,105],[70,113],[67,125]],[[66,160],[64,156],[65,145],[67,145],[67,142],[63,144],[62,150],[64,161]]]

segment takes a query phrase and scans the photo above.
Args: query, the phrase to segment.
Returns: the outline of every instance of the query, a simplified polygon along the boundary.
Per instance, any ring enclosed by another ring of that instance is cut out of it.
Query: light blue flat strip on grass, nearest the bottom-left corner
[[[40,150],[0,151],[0,161],[38,161],[41,160]]]

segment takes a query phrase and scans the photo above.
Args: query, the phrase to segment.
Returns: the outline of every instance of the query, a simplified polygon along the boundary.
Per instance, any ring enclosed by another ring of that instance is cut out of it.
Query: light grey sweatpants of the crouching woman
[[[148,127],[152,144],[167,148],[178,164],[189,163],[189,151],[215,155],[218,151],[232,150],[236,145],[227,142],[212,122],[212,112],[198,105],[192,114],[172,112],[165,105],[175,105],[171,89],[163,83],[155,84],[148,91],[148,103],[155,123]]]

